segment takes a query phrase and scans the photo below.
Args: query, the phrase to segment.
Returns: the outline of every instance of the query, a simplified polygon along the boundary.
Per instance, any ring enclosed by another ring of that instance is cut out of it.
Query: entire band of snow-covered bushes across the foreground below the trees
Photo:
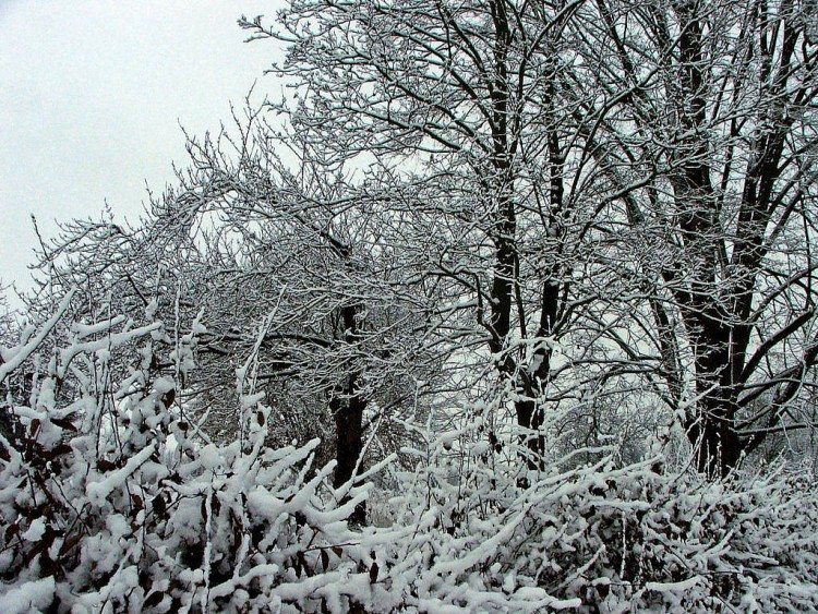
[[[597,449],[591,465],[564,458],[521,482],[476,411],[455,431],[407,424],[425,445],[401,450],[413,471],[393,465],[392,521],[357,527],[368,487],[333,489],[333,463],[312,467],[316,441],[265,447],[252,357],[237,377],[243,428],[215,445],[185,420],[178,382],[154,373],[158,348],[176,346],[161,322],[75,325],[47,349],[67,304],[3,349],[7,378],[35,352],[45,365],[29,398],[9,393],[3,408],[7,612],[818,607],[818,495],[804,472],[713,483],[665,469],[658,448],[626,466]],[[175,360],[192,369],[195,346],[184,335]]]

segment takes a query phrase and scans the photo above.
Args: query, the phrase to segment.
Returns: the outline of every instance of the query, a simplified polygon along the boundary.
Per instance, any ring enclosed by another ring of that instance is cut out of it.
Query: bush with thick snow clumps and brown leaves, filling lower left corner
[[[217,446],[180,402],[196,327],[169,339],[161,322],[74,325],[43,356],[69,301],[2,353],[2,378],[38,351],[46,364],[31,398],[4,399],[16,433],[0,440],[4,612],[347,610],[349,569],[369,583],[346,523],[366,493],[330,489],[332,465],[310,470],[317,441],[264,447],[251,361],[238,370],[241,436]]]

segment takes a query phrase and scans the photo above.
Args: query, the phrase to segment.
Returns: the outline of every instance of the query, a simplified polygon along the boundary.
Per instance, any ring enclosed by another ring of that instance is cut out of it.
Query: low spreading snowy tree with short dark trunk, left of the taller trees
[[[111,242],[72,228],[49,257],[62,258],[62,286],[88,275],[89,292],[106,286],[127,306],[159,284],[154,309],[177,326],[199,323],[197,374],[177,400],[217,441],[242,423],[233,380],[254,353],[254,385],[274,410],[270,444],[320,436],[340,487],[363,468],[368,438],[378,459],[400,446],[385,436],[398,429],[393,418],[422,413],[420,388],[440,377],[423,337],[432,289],[399,257],[377,201],[303,141],[286,144],[296,160],[286,165],[256,119],[238,137],[192,141],[190,171],[128,245],[124,233]],[[178,282],[166,287],[168,276]]]

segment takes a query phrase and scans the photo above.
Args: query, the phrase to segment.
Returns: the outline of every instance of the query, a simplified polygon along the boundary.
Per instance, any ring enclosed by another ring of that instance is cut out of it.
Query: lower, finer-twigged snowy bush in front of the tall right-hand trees
[[[665,471],[661,456],[619,468],[609,457],[546,470],[520,489],[481,443],[481,424],[430,437],[393,502],[399,522],[381,535],[394,544],[384,582],[401,604],[430,612],[818,607],[818,494],[806,473],[779,468],[711,483]]]

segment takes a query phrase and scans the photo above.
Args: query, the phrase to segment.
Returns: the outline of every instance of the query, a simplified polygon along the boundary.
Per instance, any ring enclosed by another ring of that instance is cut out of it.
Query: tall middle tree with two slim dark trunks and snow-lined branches
[[[544,408],[560,398],[549,386],[566,363],[602,364],[581,354],[608,334],[597,228],[611,200],[589,137],[606,108],[569,77],[580,5],[299,0],[280,27],[243,22],[290,45],[274,72],[298,88],[276,107],[293,130],[338,160],[375,160],[393,215],[423,229],[410,257],[448,288],[452,351],[493,364],[529,468],[542,468]],[[561,342],[572,356],[555,363]]]

